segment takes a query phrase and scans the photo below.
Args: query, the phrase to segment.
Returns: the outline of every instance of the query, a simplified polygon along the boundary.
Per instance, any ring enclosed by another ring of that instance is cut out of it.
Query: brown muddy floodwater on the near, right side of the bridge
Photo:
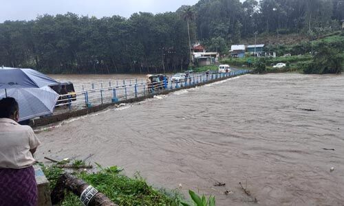
[[[246,75],[69,119],[37,156],[94,154],[217,205],[343,205],[343,102],[343,75]]]

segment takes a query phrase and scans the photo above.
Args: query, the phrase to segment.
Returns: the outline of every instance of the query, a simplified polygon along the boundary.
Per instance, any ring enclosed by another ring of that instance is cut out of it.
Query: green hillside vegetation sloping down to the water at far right
[[[278,45],[268,45],[266,51],[277,51]],[[334,32],[316,38],[314,41],[301,41],[291,45],[279,45],[281,54],[277,58],[224,58],[222,63],[236,67],[256,68],[265,65],[259,72],[300,71],[303,73],[341,73],[344,71],[344,32]],[[286,63],[284,69],[272,69],[272,65]]]

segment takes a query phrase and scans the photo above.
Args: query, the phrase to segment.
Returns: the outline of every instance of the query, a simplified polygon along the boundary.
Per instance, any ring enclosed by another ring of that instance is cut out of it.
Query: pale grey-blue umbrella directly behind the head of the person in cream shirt
[[[52,114],[58,100],[58,94],[47,86],[7,89],[7,96],[16,99],[19,104],[19,121]],[[6,98],[6,92],[0,89],[2,98]]]

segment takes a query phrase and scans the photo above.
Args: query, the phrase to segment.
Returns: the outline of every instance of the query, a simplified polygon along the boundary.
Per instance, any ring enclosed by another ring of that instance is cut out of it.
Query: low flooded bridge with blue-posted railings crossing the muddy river
[[[160,82],[144,82],[144,80],[121,80],[116,82],[90,84],[90,89],[76,91],[75,95],[61,95],[54,115],[34,119],[31,126],[44,126],[59,122],[70,117],[87,115],[100,111],[108,106],[121,103],[139,102],[154,95],[166,94],[179,89],[197,87],[211,82],[233,78],[249,73],[248,69],[237,69],[228,73],[191,73],[187,78],[171,81],[171,76],[164,77]],[[122,84],[119,84],[119,83]]]

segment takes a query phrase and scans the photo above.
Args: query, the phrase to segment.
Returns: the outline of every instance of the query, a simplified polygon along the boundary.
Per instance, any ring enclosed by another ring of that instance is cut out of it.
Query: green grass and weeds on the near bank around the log
[[[43,172],[50,181],[50,187],[54,188],[58,176],[63,170],[56,166],[43,166]],[[182,196],[175,191],[166,192],[157,190],[148,185],[147,182],[136,174],[129,178],[120,174],[122,169],[113,166],[110,168],[100,168],[99,172],[89,174],[87,172],[77,172],[76,176],[94,186],[99,192],[103,192],[107,197],[118,205],[182,205]],[[65,206],[82,205],[78,196],[67,194],[63,204]]]

